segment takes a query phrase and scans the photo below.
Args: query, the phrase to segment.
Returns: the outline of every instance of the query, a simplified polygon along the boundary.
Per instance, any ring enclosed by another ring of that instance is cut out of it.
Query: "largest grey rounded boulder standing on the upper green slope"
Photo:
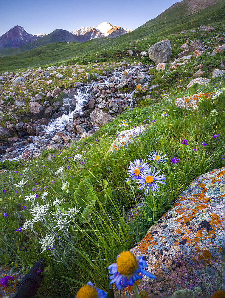
[[[149,58],[156,63],[166,62],[171,59],[172,47],[169,39],[164,39],[162,41],[153,44],[148,49]]]

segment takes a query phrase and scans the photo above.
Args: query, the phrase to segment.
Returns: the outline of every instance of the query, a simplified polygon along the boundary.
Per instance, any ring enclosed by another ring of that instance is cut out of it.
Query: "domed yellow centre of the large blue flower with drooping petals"
[[[132,275],[138,268],[138,260],[132,252],[121,252],[117,258],[117,270],[122,275]]]

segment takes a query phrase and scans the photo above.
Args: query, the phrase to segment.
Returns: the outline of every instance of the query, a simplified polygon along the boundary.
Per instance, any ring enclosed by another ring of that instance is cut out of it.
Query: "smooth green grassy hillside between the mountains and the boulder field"
[[[187,15],[179,21],[174,19],[159,21],[159,16],[153,20],[148,21],[141,27],[137,28],[133,32],[127,33],[115,38],[96,38],[84,43],[66,42],[46,44],[39,46],[27,52],[23,52],[24,48],[18,48],[13,50],[5,50],[0,52],[0,71],[16,71],[19,69],[27,69],[36,66],[43,66],[52,63],[63,63],[68,59],[80,59],[82,63],[87,61],[93,62],[94,60],[102,59],[102,56],[106,58],[116,58],[117,52],[124,51],[124,55],[127,49],[132,49],[130,46],[131,41],[136,41],[138,44],[135,46],[138,51],[148,50],[149,46],[162,40],[163,38],[169,38],[170,41],[175,42],[179,39],[179,35],[173,35],[174,32],[181,32],[185,29],[195,29],[197,32],[193,35],[193,38],[197,39],[201,37],[198,32],[198,28],[201,25],[212,25],[224,27],[225,21],[225,1],[218,1],[217,4],[207,7],[192,15]],[[212,18],[211,20],[208,20]],[[161,18],[160,18],[161,19]],[[179,25],[178,25],[179,24]],[[142,40],[145,38],[145,40]],[[182,36],[183,38],[183,36]],[[19,54],[15,55],[16,50]],[[132,49],[133,50],[133,49]],[[12,55],[13,54],[13,55]],[[8,55],[3,57],[4,55]],[[85,60],[83,59],[85,57]],[[79,60],[75,60],[79,61]]]

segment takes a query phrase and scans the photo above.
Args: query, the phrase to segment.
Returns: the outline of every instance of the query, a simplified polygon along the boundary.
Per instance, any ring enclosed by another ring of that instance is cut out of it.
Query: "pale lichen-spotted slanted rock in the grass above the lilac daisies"
[[[141,125],[132,129],[121,131],[120,134],[116,137],[114,142],[109,147],[108,153],[112,150],[118,150],[118,149],[127,147],[133,142],[134,138],[136,138],[139,134],[143,134],[147,128],[148,128],[147,125]]]

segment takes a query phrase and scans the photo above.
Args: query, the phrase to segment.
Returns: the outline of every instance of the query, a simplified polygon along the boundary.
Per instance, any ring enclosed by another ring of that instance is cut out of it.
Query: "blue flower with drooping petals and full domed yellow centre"
[[[109,274],[112,274],[109,279],[109,287],[116,282],[116,286],[119,290],[128,285],[133,285],[136,280],[142,278],[142,274],[145,274],[149,278],[156,279],[153,274],[144,270],[147,267],[147,262],[143,260],[143,257],[136,257],[132,252],[121,252],[117,256],[117,263],[113,263],[108,266]],[[140,275],[139,275],[140,273]]]

